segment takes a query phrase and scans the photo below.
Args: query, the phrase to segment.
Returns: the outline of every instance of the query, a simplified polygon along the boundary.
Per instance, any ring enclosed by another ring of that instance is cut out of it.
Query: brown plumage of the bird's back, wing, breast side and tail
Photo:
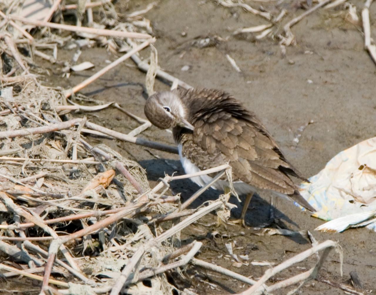
[[[185,102],[191,110],[190,122],[195,129],[193,135],[180,137],[183,156],[200,169],[229,161],[234,181],[287,194],[314,211],[297,193],[297,187],[288,175],[304,178],[288,163],[255,114],[224,92],[205,89],[188,92],[190,95],[186,96]],[[210,104],[206,105],[208,102]],[[210,155],[209,159],[203,158],[202,154]]]

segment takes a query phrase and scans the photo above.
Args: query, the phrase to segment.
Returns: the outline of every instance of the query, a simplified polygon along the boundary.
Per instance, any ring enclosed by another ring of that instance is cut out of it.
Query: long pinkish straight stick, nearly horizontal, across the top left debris
[[[56,23],[49,23],[46,21],[35,21],[30,20],[29,18],[18,17],[17,15],[9,15],[9,18],[16,21],[21,21],[24,24],[31,24],[33,26],[38,27],[49,27],[53,29],[61,29],[67,30],[71,32],[80,32],[80,33],[90,33],[96,34],[100,36],[112,36],[112,37],[120,37],[120,38],[138,38],[138,39],[151,39],[152,36],[149,34],[144,33],[133,33],[133,32],[123,32],[123,31],[116,31],[116,30],[106,30],[106,29],[94,29],[88,27],[77,27],[77,26],[70,26],[66,24],[56,24]]]

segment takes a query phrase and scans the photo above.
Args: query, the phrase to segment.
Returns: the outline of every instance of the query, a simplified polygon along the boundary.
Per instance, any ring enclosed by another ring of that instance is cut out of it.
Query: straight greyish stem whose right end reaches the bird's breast
[[[104,134],[110,135],[112,137],[115,137],[123,141],[135,143],[140,146],[150,147],[152,149],[158,149],[159,151],[169,152],[172,154],[178,154],[177,147],[168,146],[167,144],[157,143],[154,141],[149,141],[149,140],[145,140],[145,139],[134,137],[134,136],[129,136],[127,134],[123,134],[121,132],[108,129],[106,127],[102,127],[100,125],[97,125],[88,121],[85,122],[85,126],[89,129],[102,132]]]

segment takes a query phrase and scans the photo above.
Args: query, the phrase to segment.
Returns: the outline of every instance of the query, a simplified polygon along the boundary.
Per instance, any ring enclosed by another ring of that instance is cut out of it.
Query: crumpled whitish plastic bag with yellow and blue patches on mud
[[[299,192],[329,221],[316,230],[342,232],[366,226],[376,231],[376,137],[337,154]]]

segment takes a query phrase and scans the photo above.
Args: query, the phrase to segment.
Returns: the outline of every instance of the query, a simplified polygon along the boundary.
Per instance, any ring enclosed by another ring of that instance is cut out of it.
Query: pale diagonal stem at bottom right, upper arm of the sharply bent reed
[[[294,257],[291,257],[290,259],[286,260],[285,262],[282,262],[280,263],[279,265],[277,266],[274,266],[273,268],[270,268],[268,269],[267,271],[265,271],[265,274],[257,281],[256,284],[254,284],[252,287],[250,287],[249,289],[245,290],[244,292],[240,293],[241,295],[255,295],[255,294],[262,294],[265,290],[264,287],[262,287],[262,285],[269,279],[271,278],[273,275],[277,274],[278,272],[294,265],[295,263],[298,263],[298,262],[302,262],[304,259],[308,258],[309,256],[311,256],[312,254],[320,251],[320,250],[324,250],[326,248],[336,248],[337,247],[337,243],[336,242],[333,242],[331,240],[327,240],[325,242],[322,242],[321,244],[318,244],[317,246],[315,247],[312,247],[306,251],[303,251],[302,253],[299,253],[297,254],[296,256]],[[327,254],[326,254],[327,255]],[[326,255],[323,257],[323,255],[321,256],[322,258],[326,258]],[[320,259],[321,261],[321,259]],[[319,263],[321,263],[319,266],[321,267],[322,263],[323,263],[323,260]],[[317,264],[318,265],[318,264]],[[316,265],[316,267],[317,267]],[[316,267],[314,269],[316,269]],[[265,291],[268,291],[268,290],[265,290]]]

